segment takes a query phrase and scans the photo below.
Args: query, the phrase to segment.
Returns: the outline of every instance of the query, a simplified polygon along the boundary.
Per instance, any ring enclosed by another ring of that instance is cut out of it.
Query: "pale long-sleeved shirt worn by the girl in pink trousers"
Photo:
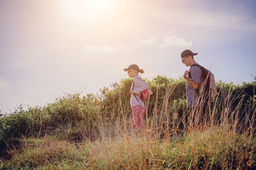
[[[131,95],[131,98],[130,98],[131,107],[140,105],[145,108],[144,102],[139,98],[139,96],[141,91],[149,89],[149,84],[146,84],[146,82],[142,80],[142,77],[140,75],[137,75],[136,77],[133,78],[132,86],[133,84],[134,84],[133,91],[135,92],[135,94],[138,94],[138,96],[135,97],[134,94]],[[131,91],[132,91],[132,86],[131,86]]]

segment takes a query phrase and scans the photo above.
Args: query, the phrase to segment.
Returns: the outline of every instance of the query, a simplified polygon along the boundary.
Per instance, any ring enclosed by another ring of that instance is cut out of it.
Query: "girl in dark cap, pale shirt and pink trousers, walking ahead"
[[[149,89],[149,84],[146,84],[146,82],[142,80],[142,77],[138,75],[139,72],[144,73],[144,70],[139,69],[137,64],[130,65],[127,69],[124,69],[124,71],[133,79],[131,90],[129,91],[131,94],[130,104],[132,107],[132,128],[144,128],[143,115],[145,114],[146,109],[139,96],[141,91]],[[150,95],[151,93],[152,91],[149,90]]]

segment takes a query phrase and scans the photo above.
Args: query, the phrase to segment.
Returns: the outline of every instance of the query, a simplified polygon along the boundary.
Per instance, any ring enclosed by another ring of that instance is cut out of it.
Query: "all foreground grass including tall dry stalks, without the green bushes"
[[[11,151],[10,160],[1,159],[1,169],[255,169],[255,103],[234,106],[233,91],[218,92],[218,99],[183,115],[172,103],[175,87],[166,89],[164,102],[153,109],[146,103],[145,128],[132,129],[129,101],[119,96],[118,113],[110,120],[97,112],[98,132],[90,139],[86,128],[80,142],[56,135],[23,139],[21,149]],[[121,94],[121,93],[120,93]],[[237,94],[238,96],[239,94]],[[171,102],[170,102],[171,101]],[[203,111],[206,113],[203,114]],[[149,111],[152,113],[149,114]],[[86,127],[86,126],[85,126]],[[62,130],[62,131],[63,131]],[[72,137],[71,137],[72,138]]]

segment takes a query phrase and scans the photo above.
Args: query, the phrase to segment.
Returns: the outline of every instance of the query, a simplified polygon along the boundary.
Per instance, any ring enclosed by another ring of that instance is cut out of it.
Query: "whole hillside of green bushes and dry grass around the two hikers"
[[[68,94],[47,106],[20,106],[0,118],[0,169],[255,169],[255,85],[218,82],[202,122],[186,118],[186,82],[146,80],[144,130],[132,130],[123,79],[99,94]]]

